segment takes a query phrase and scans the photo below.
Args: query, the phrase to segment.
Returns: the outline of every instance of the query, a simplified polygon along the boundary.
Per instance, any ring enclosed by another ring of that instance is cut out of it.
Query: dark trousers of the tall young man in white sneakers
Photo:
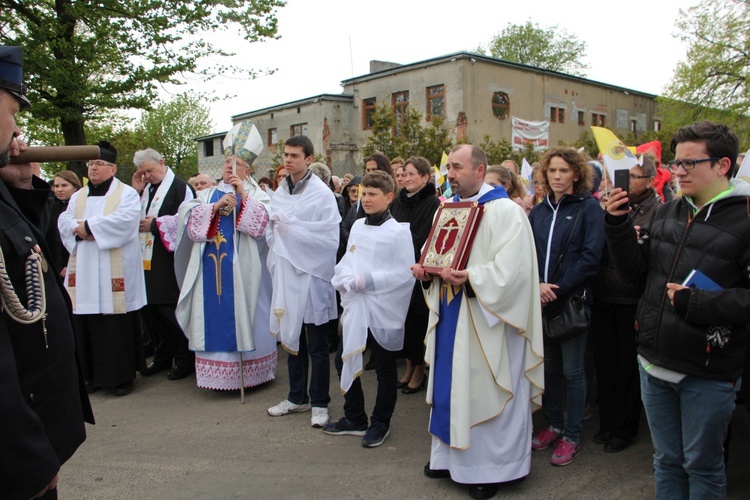
[[[308,362],[307,356],[310,355]],[[310,395],[307,394],[307,372],[310,370]],[[310,402],[313,406],[328,408],[331,397],[328,387],[331,382],[331,358],[328,352],[328,324],[302,325],[299,337],[299,352],[289,354],[289,396],[294,404]]]

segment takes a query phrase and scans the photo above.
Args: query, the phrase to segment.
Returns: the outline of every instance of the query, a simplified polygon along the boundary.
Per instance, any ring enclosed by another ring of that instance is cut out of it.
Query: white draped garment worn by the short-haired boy
[[[380,226],[357,220],[346,253],[336,265],[333,286],[344,313],[341,390],[362,374],[367,329],[383,349],[404,346],[404,321],[414,289],[414,247],[409,224],[388,219]]]

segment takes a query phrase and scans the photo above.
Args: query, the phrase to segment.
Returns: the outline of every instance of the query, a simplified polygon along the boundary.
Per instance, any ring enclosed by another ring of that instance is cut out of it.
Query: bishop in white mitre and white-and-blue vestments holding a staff
[[[198,387],[236,390],[273,380],[277,352],[268,324],[269,198],[249,175],[263,145],[250,121],[233,128],[224,143],[222,181],[179,210],[177,320],[196,352]]]

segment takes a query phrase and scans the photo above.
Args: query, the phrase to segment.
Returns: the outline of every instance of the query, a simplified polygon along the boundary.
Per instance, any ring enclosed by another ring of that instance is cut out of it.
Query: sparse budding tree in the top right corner
[[[747,0],[715,0],[680,10],[678,36],[688,45],[659,100],[670,128],[699,119],[722,121],[744,143],[750,130],[750,10]]]

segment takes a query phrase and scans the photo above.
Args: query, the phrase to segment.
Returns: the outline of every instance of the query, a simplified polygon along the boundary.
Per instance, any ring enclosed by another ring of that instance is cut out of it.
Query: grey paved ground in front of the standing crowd
[[[139,375],[130,396],[92,394],[97,425],[88,426],[88,440],[63,467],[60,498],[469,498],[468,487],[422,474],[430,446],[424,392],[399,393],[390,437],[365,449],[360,438],[312,429],[309,413],[267,415],[287,394],[286,354],[279,359],[277,379],[249,391],[244,405],[239,393],[199,389],[191,378],[169,381],[165,373]],[[363,382],[371,407],[375,374],[365,372]],[[331,396],[331,418],[338,419],[343,396],[335,382]],[[544,425],[541,413],[534,419]],[[733,426],[729,497],[747,498],[744,406]],[[617,454],[594,444],[596,430],[596,418],[585,423],[583,451],[567,467],[550,465],[551,451],[534,452],[528,479],[499,497],[653,497],[645,419],[635,444]]]

